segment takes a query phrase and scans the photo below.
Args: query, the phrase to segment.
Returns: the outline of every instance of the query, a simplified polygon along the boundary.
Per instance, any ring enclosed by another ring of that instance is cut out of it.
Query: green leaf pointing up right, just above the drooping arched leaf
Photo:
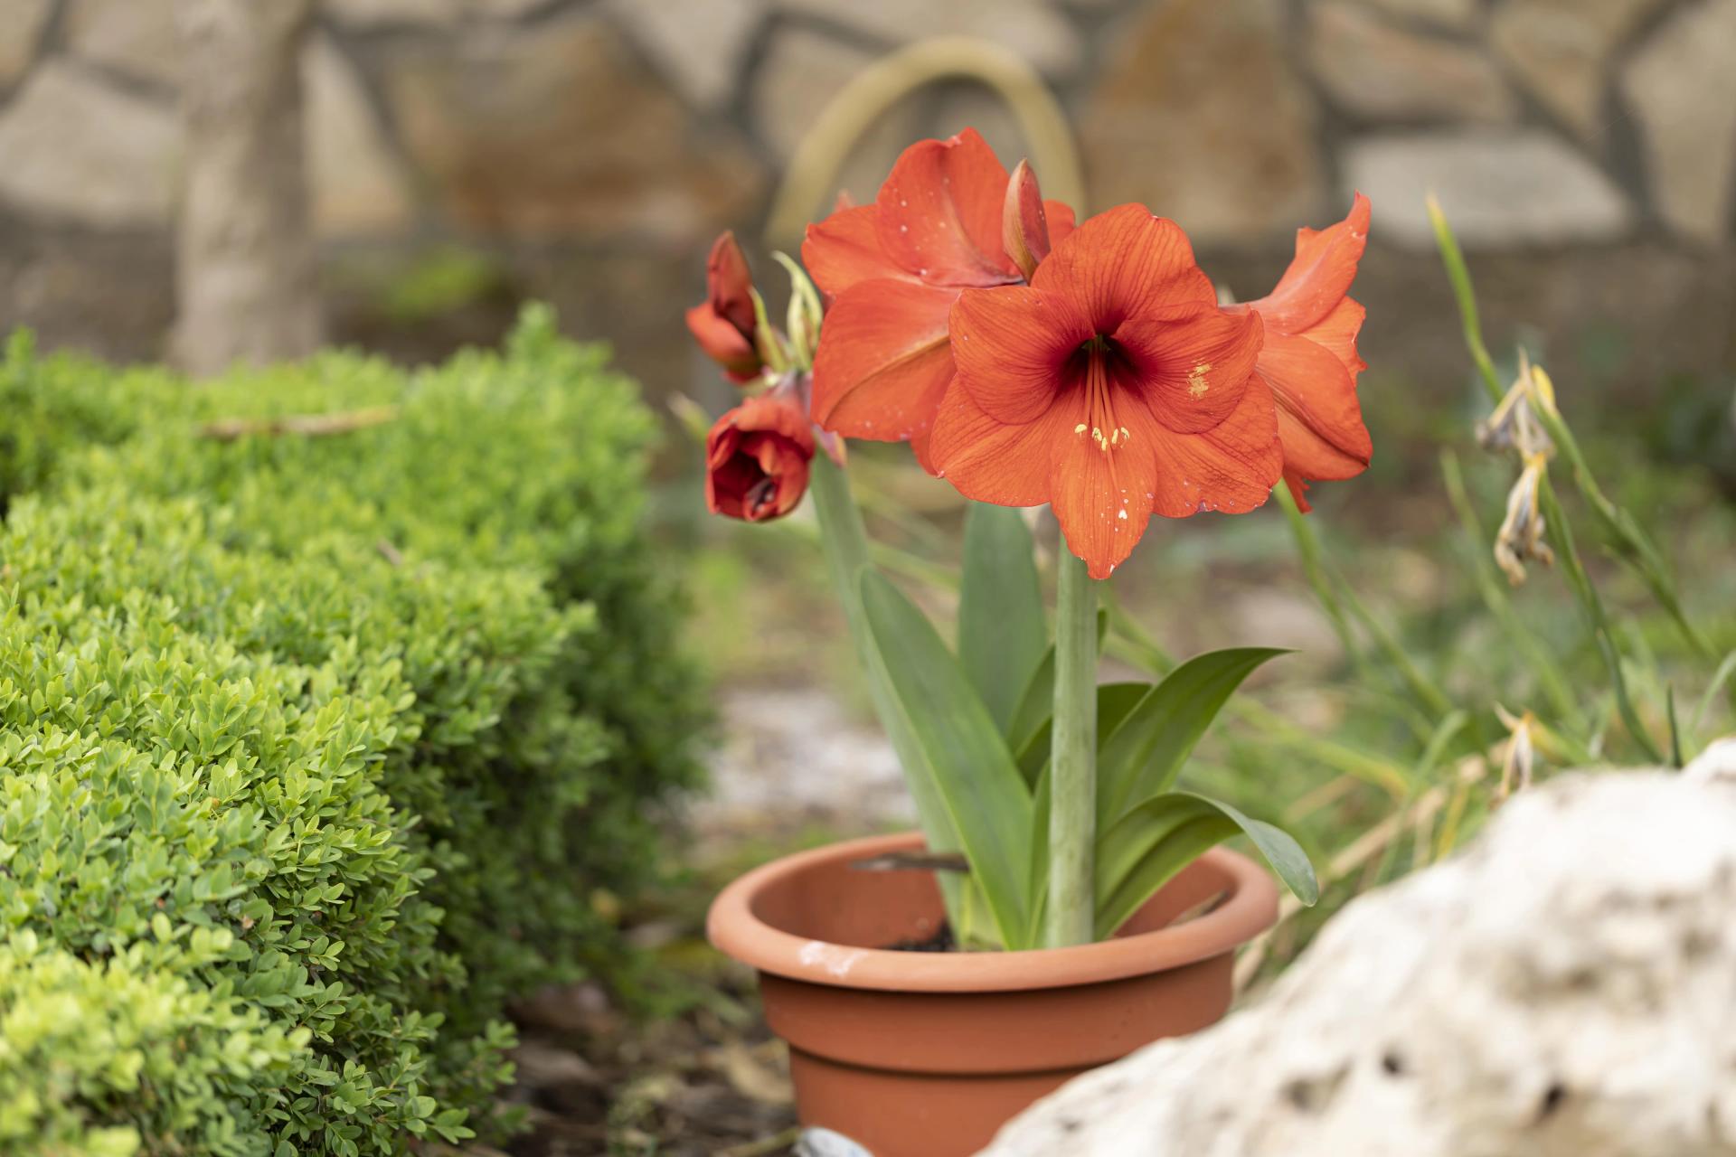
[[[1097,831],[1109,831],[1139,800],[1167,791],[1231,692],[1276,647],[1208,650],[1182,663],[1097,741]]]

